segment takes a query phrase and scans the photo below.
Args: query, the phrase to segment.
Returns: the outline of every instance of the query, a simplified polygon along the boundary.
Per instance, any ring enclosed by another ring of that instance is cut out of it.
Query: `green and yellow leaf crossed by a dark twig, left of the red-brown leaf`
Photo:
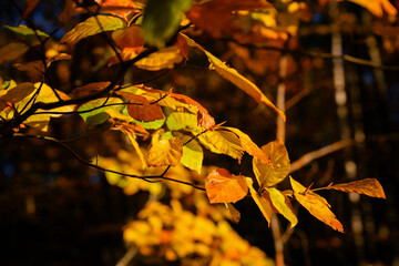
[[[104,103],[105,105],[108,105],[114,103],[123,103],[123,101],[119,98],[110,98],[108,100],[106,98],[101,98],[82,104],[78,109],[78,112],[80,112],[80,115],[86,122],[88,125],[96,125],[104,123],[110,117],[110,115],[105,112],[106,109],[113,109],[116,112],[121,112],[122,109],[124,108],[124,105],[122,104],[101,108]]]

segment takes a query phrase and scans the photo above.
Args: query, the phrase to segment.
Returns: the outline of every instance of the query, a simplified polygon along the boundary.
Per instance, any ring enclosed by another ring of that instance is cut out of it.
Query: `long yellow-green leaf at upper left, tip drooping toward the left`
[[[103,31],[112,31],[124,28],[124,21],[112,16],[99,14],[91,17],[85,21],[79,23],[75,28],[69,31],[62,39],[61,43],[76,43],[78,41],[95,35]]]

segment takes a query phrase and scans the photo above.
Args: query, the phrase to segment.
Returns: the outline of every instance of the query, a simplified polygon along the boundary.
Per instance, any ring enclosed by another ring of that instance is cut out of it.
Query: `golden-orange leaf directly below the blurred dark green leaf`
[[[140,69],[157,71],[173,69],[176,63],[182,62],[183,57],[177,47],[167,47],[145,57],[134,63]]]

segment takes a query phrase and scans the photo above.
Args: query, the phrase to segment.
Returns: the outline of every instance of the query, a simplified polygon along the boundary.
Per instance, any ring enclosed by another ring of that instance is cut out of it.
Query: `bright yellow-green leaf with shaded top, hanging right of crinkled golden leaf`
[[[194,170],[201,174],[204,152],[200,143],[196,140],[193,140],[192,136],[184,135],[180,132],[174,132],[173,135],[177,136],[183,144],[183,156],[181,158],[181,163],[187,168]]]

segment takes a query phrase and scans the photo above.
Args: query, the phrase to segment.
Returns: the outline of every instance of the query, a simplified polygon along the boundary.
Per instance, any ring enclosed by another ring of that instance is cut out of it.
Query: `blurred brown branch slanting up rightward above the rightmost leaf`
[[[354,140],[344,140],[344,141],[338,141],[332,144],[329,144],[327,146],[324,146],[319,150],[306,153],[305,155],[299,157],[297,161],[291,163],[289,173],[294,173],[295,171],[300,170],[301,167],[304,167],[305,165],[307,165],[308,163],[310,163],[317,158],[320,158],[323,156],[326,156],[330,153],[337,152],[345,147],[352,146],[355,144],[356,144],[356,142]]]

